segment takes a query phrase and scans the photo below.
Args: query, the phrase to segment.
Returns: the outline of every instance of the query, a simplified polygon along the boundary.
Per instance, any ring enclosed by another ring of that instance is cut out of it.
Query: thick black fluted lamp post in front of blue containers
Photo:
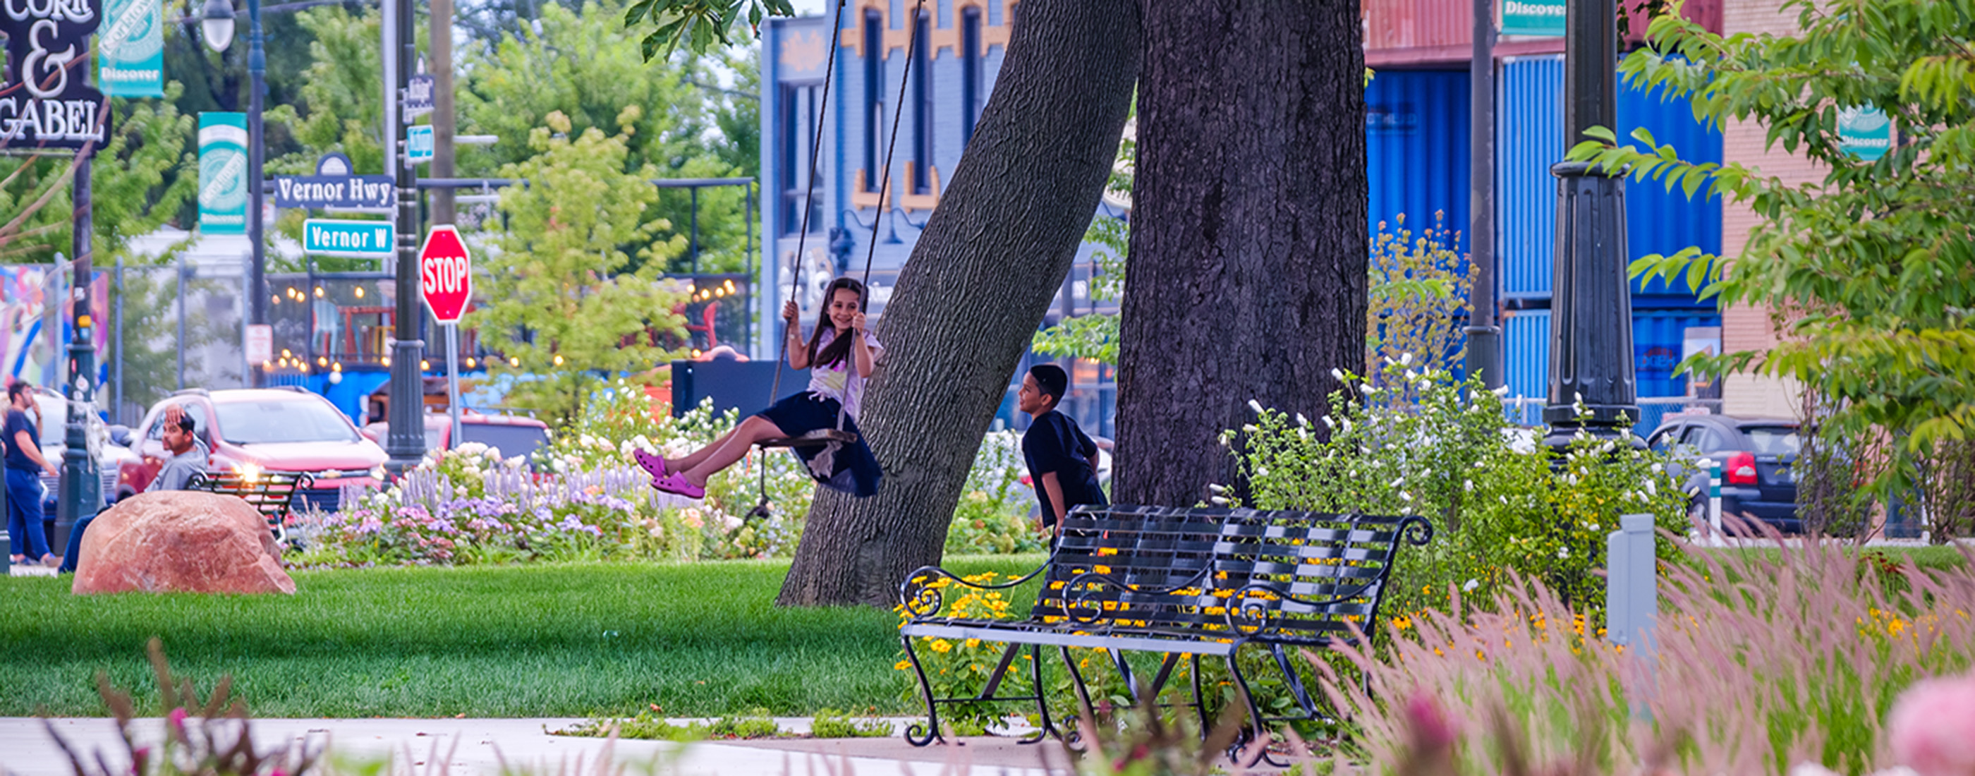
[[[1614,0],[1572,0],[1564,38],[1566,142],[1592,126],[1616,126],[1618,8]],[[1631,286],[1625,280],[1625,178],[1586,162],[1558,162],[1556,267],[1550,312],[1550,389],[1542,421],[1546,444],[1564,446],[1584,430],[1631,438],[1639,423],[1631,363]],[[1584,405],[1588,419],[1578,417]]]

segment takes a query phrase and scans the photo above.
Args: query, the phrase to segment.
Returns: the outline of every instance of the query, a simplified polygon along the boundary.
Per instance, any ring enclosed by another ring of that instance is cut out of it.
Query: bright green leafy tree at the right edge
[[[1661,16],[1653,45],[1621,71],[1687,97],[1716,126],[1764,126],[1768,146],[1807,156],[1823,180],[1691,164],[1645,130],[1631,134],[1639,146],[1588,132],[1572,158],[1756,211],[1732,265],[1691,247],[1643,257],[1631,272],[1685,276],[1724,306],[1772,310],[1781,344],[1689,367],[1801,381],[1831,405],[1827,432],[1892,442],[1874,490],[1904,492],[1937,444],[1975,430],[1975,0],[1789,0],[1783,10],[1797,14],[1797,36],[1724,38]],[[1839,122],[1872,107],[1896,142],[1864,160]]]

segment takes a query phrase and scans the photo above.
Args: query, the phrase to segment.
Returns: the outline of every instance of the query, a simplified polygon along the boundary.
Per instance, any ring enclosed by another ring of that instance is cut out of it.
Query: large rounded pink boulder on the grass
[[[97,515],[75,571],[85,592],[294,592],[267,517],[237,496],[138,494]]]

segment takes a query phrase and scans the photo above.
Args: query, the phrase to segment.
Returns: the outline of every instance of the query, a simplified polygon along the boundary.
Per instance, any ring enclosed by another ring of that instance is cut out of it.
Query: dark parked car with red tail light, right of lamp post
[[[1722,466],[1722,515],[1756,517],[1783,533],[1801,533],[1793,466],[1801,440],[1797,421],[1738,419],[1728,415],[1673,415],[1647,436],[1653,450],[1681,460],[1689,511],[1704,515],[1708,466]]]

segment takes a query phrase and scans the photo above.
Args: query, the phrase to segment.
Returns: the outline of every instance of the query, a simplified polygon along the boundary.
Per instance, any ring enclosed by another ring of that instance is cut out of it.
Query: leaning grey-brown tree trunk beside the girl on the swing
[[[1136,0],[1021,4],[974,140],[877,324],[887,355],[857,425],[885,484],[865,500],[818,490],[778,604],[889,606],[907,573],[940,561],[982,434],[1090,227],[1138,59]]]

